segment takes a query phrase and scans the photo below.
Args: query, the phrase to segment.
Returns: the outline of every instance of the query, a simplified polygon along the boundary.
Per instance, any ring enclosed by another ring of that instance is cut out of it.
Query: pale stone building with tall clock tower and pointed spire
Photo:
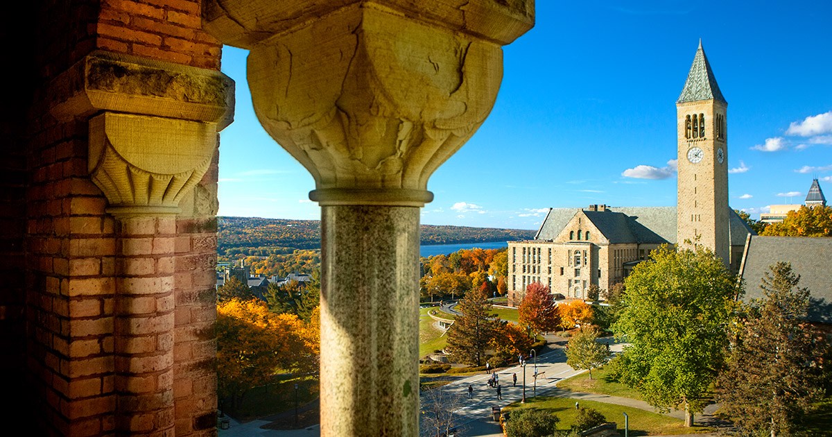
[[[754,231],[728,206],[727,107],[700,42],[676,102],[677,206],[550,210],[534,240],[508,243],[509,299],[519,303],[532,282],[586,298],[662,244],[705,246],[739,271]]]

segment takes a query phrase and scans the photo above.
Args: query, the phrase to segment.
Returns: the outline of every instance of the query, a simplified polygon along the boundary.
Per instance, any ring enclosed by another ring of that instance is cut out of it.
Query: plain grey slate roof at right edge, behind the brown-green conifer
[[[832,323],[832,237],[752,236],[740,271],[745,280],[745,297],[763,297],[760,284],[769,266],[777,261],[791,263],[800,275],[799,287],[811,291],[809,320]]]

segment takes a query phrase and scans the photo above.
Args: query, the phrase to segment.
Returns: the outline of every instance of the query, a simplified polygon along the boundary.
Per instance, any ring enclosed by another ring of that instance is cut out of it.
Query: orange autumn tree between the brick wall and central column
[[[311,325],[311,324],[310,324]],[[240,405],[245,393],[277,370],[311,371],[319,337],[297,315],[270,312],[262,300],[231,299],[217,305],[217,389]]]

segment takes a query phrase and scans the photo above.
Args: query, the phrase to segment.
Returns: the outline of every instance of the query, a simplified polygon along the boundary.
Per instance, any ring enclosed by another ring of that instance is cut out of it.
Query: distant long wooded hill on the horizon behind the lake
[[[265,219],[260,217],[217,217],[217,251],[232,248],[320,246],[320,221]],[[422,225],[422,244],[484,243],[528,240],[535,231],[491,227]]]

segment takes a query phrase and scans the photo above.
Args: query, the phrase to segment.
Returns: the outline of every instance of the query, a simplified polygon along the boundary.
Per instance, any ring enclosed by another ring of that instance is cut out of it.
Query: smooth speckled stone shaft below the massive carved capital
[[[419,208],[321,215],[321,435],[416,436]]]

